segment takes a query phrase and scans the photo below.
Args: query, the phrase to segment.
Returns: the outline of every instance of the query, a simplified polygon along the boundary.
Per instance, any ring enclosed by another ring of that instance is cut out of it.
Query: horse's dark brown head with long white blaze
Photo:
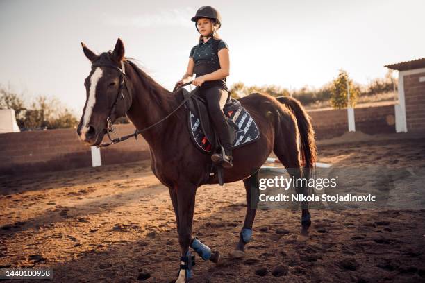
[[[118,39],[113,52],[100,55],[83,42],[81,45],[92,62],[92,71],[84,82],[86,101],[77,133],[86,144],[97,146],[108,130],[108,121],[113,123],[125,116],[131,106],[131,94],[125,80],[124,44]]]

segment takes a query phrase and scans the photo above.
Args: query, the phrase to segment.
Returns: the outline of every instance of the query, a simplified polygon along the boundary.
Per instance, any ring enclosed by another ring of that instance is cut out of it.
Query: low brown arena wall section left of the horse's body
[[[117,126],[119,135],[127,135],[133,129],[132,125]],[[0,148],[0,175],[92,166],[90,146],[81,143],[74,129],[1,134]],[[134,162],[147,158],[149,147],[142,138],[101,148],[102,164]]]

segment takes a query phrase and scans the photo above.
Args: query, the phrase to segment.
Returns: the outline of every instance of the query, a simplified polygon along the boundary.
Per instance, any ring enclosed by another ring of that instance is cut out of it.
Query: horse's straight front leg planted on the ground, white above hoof
[[[194,256],[190,253],[189,246],[192,240],[192,222],[197,187],[188,182],[181,182],[177,184],[175,189],[177,205],[174,210],[178,223],[178,243],[180,243],[181,248],[180,270],[176,283],[183,283],[188,282],[193,277]]]

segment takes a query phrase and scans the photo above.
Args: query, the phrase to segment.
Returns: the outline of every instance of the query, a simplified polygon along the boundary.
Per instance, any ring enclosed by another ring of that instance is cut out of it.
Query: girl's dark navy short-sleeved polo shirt
[[[197,74],[197,77],[213,73],[213,71],[220,69],[218,51],[224,48],[228,49],[226,42],[214,37],[211,37],[205,43],[201,39],[199,40],[199,44],[192,47],[189,57],[193,58],[195,63],[194,73]],[[214,85],[220,85],[224,89],[228,90],[226,85],[226,78],[222,78],[222,80],[206,81],[202,84],[201,88],[207,88]]]

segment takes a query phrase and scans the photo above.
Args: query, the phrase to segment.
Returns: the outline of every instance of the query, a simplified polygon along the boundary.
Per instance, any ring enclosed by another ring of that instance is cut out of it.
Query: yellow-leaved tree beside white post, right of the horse
[[[347,71],[340,69],[340,74],[338,78],[332,81],[331,85],[331,105],[333,108],[346,108],[348,105],[348,91],[347,85],[349,87],[350,94],[350,106],[354,107],[356,105],[357,96],[360,91],[356,85],[354,85],[353,80],[349,78]]]

